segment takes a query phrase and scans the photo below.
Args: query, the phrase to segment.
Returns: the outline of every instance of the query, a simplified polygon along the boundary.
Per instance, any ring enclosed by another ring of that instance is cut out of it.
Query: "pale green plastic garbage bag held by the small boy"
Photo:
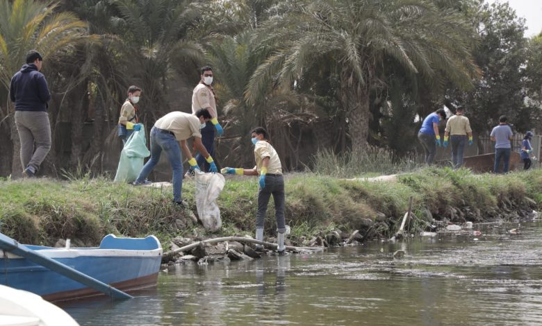
[[[145,128],[141,123],[138,125],[141,126],[140,130],[134,131],[122,148],[115,182],[136,181],[141,169],[143,169],[143,159],[151,155],[147,149]]]

